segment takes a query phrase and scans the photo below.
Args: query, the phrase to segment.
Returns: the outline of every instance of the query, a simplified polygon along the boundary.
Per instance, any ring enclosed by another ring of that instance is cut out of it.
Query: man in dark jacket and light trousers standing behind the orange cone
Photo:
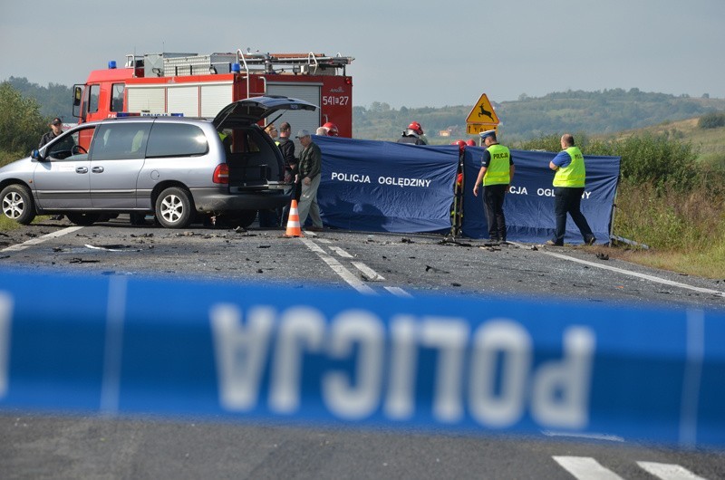
[[[323,229],[323,221],[320,218],[320,207],[317,206],[317,188],[320,187],[320,178],[322,177],[323,154],[317,144],[312,141],[310,132],[300,130],[297,133],[297,139],[302,144],[302,152],[300,152],[300,173],[297,182],[301,187],[300,190],[300,225],[304,226],[307,215],[312,218],[312,226],[308,230],[319,232]]]

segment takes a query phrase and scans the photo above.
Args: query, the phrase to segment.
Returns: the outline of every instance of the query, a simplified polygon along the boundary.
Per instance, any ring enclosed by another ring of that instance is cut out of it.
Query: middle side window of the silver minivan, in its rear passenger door
[[[143,158],[151,122],[104,123],[93,136],[91,160]]]

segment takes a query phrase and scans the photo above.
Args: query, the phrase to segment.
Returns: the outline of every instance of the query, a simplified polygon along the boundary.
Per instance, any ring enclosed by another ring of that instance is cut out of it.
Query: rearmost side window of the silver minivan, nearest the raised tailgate
[[[155,122],[146,157],[191,157],[209,151],[207,136],[196,125]]]

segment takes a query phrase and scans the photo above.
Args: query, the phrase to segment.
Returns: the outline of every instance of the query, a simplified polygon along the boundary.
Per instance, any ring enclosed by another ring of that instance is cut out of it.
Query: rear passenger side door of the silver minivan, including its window
[[[136,186],[151,124],[152,120],[114,120],[99,127],[89,152],[93,208],[136,207]]]

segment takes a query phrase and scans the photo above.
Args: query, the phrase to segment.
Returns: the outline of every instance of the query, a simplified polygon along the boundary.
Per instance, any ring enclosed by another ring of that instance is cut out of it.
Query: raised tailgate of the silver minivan
[[[316,110],[308,101],[282,96],[252,97],[229,103],[214,119],[217,129],[246,127],[265,119],[277,110]]]

